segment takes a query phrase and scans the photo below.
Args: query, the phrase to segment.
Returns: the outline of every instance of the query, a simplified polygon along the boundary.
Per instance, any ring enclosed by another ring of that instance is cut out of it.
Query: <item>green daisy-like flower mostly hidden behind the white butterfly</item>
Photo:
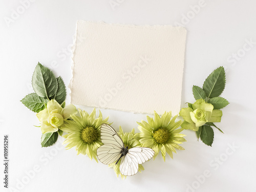
[[[139,142],[139,138],[138,138],[138,134],[134,134],[134,129],[132,132],[130,133],[123,133],[122,127],[119,127],[119,132],[117,133],[121,139],[123,140],[124,146],[128,146],[128,148],[133,148],[136,146],[141,146],[141,143]],[[116,162],[109,164],[109,167],[113,167],[117,177],[119,177],[119,175],[121,176],[122,179],[125,179],[126,176],[122,175],[120,173],[120,163],[121,160],[118,161],[118,163],[116,164]],[[139,172],[141,173],[141,171],[144,170],[144,167],[139,164]]]

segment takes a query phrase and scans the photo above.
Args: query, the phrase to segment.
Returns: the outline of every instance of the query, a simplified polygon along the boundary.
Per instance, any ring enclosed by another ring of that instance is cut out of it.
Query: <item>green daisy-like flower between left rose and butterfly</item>
[[[77,155],[80,153],[88,155],[90,159],[94,158],[97,162],[97,148],[102,145],[100,140],[100,126],[108,123],[108,118],[102,120],[102,114],[99,111],[99,117],[95,119],[96,110],[89,115],[85,111],[78,109],[80,117],[71,115],[73,120],[67,121],[61,126],[63,132],[68,133],[64,143],[68,143],[66,148],[70,149],[76,146]]]

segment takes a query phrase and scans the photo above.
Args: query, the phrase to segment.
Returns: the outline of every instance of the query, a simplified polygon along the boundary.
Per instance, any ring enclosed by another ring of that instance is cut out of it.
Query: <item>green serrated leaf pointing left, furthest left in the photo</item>
[[[48,99],[42,98],[36,93],[30,93],[20,101],[31,111],[38,113],[46,108],[45,103],[48,102]]]

